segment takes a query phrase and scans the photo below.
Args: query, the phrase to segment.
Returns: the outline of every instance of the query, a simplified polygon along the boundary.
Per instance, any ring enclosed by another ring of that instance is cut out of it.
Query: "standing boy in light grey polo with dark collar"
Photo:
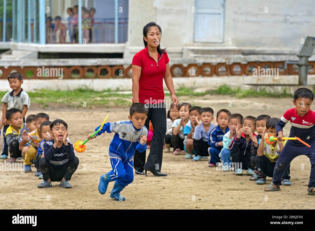
[[[8,91],[2,98],[3,102],[2,108],[2,124],[3,124],[3,145],[2,145],[2,154],[0,159],[8,159],[8,146],[6,142],[6,130],[9,127],[8,120],[6,118],[6,113],[12,108],[17,108],[22,112],[23,123],[25,123],[25,115],[28,107],[30,107],[31,101],[28,94],[23,91],[21,85],[23,84],[22,75],[19,72],[14,72],[9,74],[8,81],[12,91]],[[15,162],[15,157],[10,157],[9,162]]]

